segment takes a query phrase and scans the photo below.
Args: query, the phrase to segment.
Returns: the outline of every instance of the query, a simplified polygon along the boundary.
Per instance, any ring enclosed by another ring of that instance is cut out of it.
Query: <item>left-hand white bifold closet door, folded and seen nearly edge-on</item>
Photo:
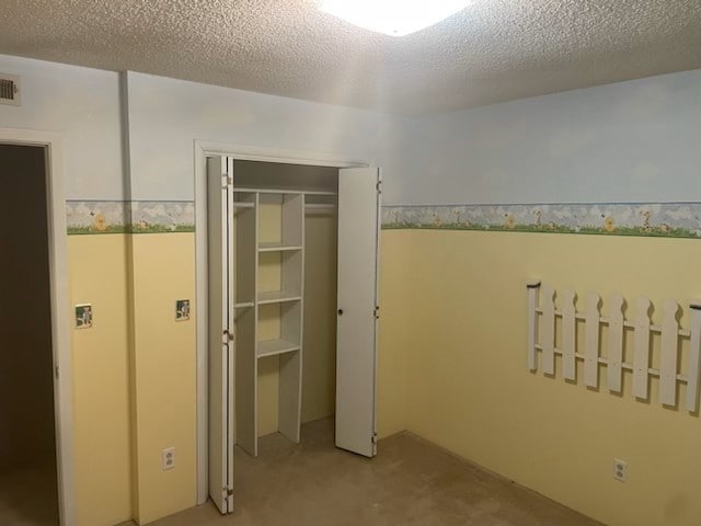
[[[233,512],[233,261],[231,158],[207,160],[209,496]]]

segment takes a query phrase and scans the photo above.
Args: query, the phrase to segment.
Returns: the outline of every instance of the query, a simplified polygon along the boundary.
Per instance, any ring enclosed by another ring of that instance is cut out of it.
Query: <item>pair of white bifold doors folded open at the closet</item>
[[[233,512],[233,175],[232,158],[208,159],[208,472],[209,495],[221,513]],[[379,184],[377,168],[338,171],[336,446],[367,457],[377,451]]]

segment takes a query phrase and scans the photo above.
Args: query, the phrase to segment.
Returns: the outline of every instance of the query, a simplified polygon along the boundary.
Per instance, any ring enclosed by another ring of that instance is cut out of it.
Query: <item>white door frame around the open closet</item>
[[[207,157],[228,156],[239,161],[277,162],[308,167],[366,168],[367,161],[349,160],[301,150],[264,148],[195,140],[195,327],[197,375],[197,504],[208,492],[208,358],[207,358]]]

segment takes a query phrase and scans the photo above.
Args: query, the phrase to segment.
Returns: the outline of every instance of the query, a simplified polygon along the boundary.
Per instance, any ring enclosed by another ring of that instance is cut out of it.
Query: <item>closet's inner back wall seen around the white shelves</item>
[[[337,192],[337,169],[256,161],[234,161],[234,187],[276,191]],[[336,353],[336,208],[317,206],[307,196],[304,209],[303,364],[301,422],[332,416],[335,411]],[[335,199],[334,199],[335,203]],[[281,238],[281,206],[274,199],[260,205],[260,241]],[[279,253],[266,253],[258,266],[261,289],[279,284]],[[260,338],[279,332],[279,306],[261,311]],[[280,356],[258,361],[258,436],[278,431]]]

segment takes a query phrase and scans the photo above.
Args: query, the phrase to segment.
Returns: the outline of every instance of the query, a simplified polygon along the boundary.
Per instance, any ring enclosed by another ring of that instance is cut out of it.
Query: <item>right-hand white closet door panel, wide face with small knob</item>
[[[380,171],[338,170],[336,446],[377,454]]]

